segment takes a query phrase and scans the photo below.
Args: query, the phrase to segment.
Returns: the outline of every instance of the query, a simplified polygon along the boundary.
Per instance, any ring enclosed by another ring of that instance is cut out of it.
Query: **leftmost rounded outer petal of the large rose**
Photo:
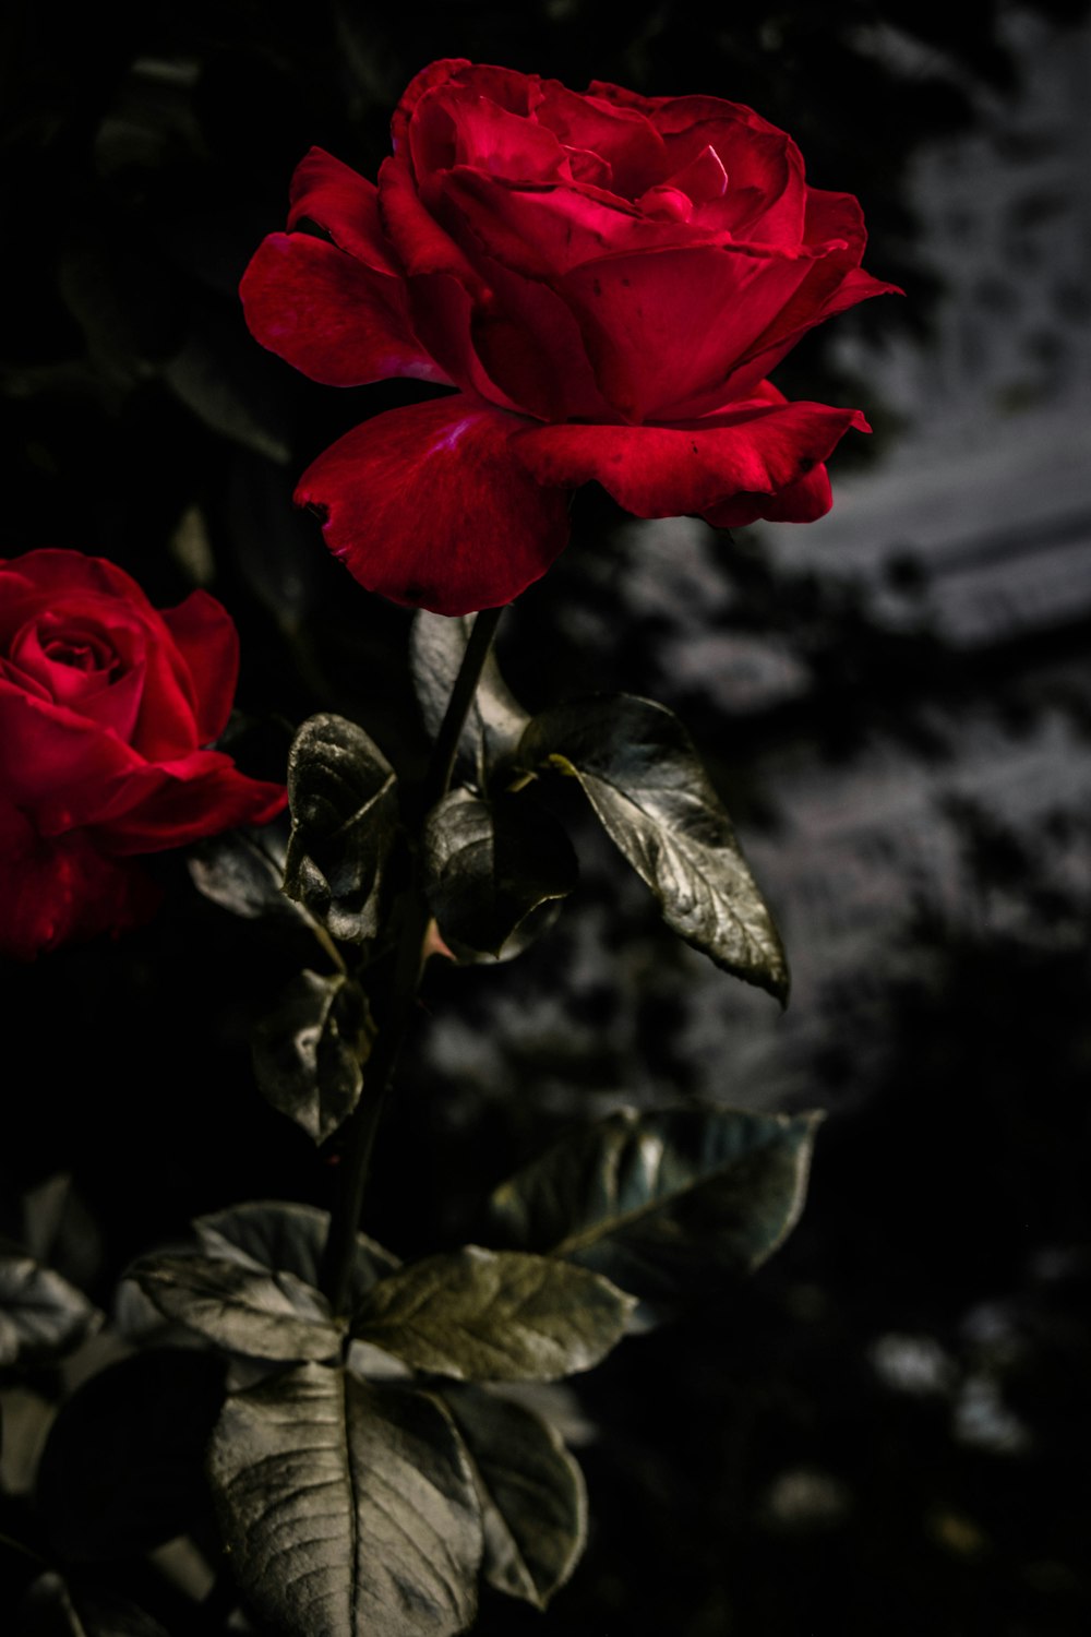
[[[272,232],[239,286],[250,332],[326,386],[391,375],[450,385],[409,327],[401,280],[306,232]]]

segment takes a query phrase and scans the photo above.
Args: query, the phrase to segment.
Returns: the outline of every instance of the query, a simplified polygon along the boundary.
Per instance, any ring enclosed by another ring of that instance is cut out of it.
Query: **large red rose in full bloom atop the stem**
[[[296,499],[357,579],[440,614],[509,602],[590,478],[638,517],[829,509],[823,462],[867,422],[765,375],[896,286],[860,268],[860,206],[808,187],[792,138],[716,97],[581,97],[448,61],[393,139],[378,188],[311,149],[240,291],[257,339],[316,381],[458,388],[304,473]]]

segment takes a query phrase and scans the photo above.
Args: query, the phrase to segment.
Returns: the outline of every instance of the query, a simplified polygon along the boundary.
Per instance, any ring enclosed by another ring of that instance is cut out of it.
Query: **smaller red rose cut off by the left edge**
[[[0,951],[132,927],[155,889],[129,855],[280,812],[281,786],[201,748],[237,671],[204,591],[157,612],[100,557],[0,561]]]

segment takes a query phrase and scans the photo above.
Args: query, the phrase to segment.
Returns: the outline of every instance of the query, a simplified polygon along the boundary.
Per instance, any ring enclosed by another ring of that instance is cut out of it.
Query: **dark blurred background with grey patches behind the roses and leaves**
[[[684,717],[782,923],[792,1007],[677,945],[572,799],[582,882],[551,936],[429,979],[366,1226],[401,1254],[460,1242],[517,1162],[618,1103],[828,1110],[785,1249],[581,1382],[587,1558],[545,1619],[489,1598],[478,1630],[1084,1634],[1088,5],[106,11],[0,18],[0,555],[106,555],[160,606],[214,591],[255,774],[281,776],[316,709],[407,773],[425,751],[407,616],[290,504],[334,437],[419,393],[306,381],[236,296],[312,142],[373,177],[412,74],[466,56],[749,103],[815,185],[859,195],[867,267],[906,300],[775,373],[875,427],[834,457],[833,512],[731,542],[584,491],[501,632],[530,709],[625,688]],[[69,1272],[103,1303],[198,1211],[330,1195],[249,1061],[311,953],[200,899],[183,859],[155,868],[147,930],[3,974],[34,1064],[3,1076],[5,1226],[70,1177]],[[47,1419],[41,1383],[0,1387]],[[21,1459],[8,1441],[0,1532]],[[0,1598],[23,1578],[0,1547]]]

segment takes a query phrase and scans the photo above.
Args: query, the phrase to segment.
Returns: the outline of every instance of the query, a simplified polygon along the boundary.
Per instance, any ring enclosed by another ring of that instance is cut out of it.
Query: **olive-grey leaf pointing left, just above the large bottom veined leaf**
[[[329,1359],[343,1339],[326,1297],[294,1274],[208,1256],[157,1256],[129,1269],[164,1318],[250,1359]]]

